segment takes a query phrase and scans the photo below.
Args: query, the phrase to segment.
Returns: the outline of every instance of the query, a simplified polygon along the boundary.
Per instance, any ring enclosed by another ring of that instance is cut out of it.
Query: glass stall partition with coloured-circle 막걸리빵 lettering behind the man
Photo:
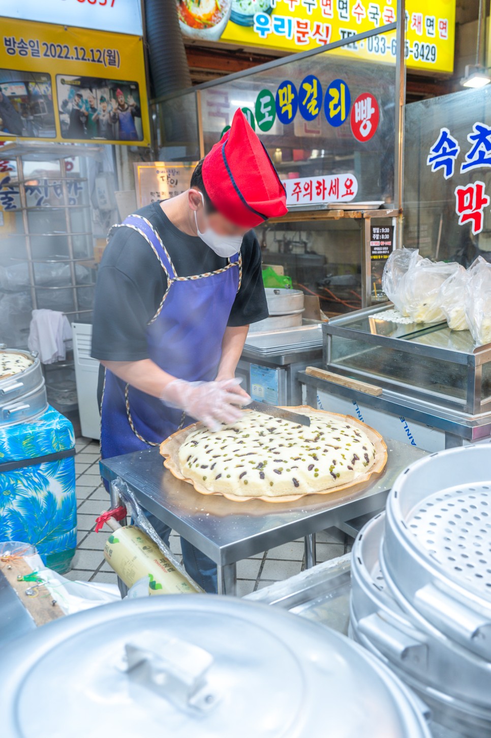
[[[403,85],[390,24],[162,98],[152,116],[158,156],[205,156],[241,108],[288,191],[288,215],[256,229],[263,263],[282,267],[295,288],[318,296],[327,316],[353,311],[386,300],[381,277],[401,213],[401,110],[394,100],[404,99]],[[313,86],[317,97],[308,108]],[[290,108],[282,108],[285,89],[297,96]],[[376,109],[363,133],[362,100]],[[343,113],[335,113],[341,105]],[[349,201],[339,184],[347,177],[355,184]],[[338,185],[319,201],[316,188],[327,178]]]

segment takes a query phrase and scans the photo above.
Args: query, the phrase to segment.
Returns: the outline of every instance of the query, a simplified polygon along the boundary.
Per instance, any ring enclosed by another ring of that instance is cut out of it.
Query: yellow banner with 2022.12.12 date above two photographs
[[[0,139],[149,144],[142,38],[0,24]]]

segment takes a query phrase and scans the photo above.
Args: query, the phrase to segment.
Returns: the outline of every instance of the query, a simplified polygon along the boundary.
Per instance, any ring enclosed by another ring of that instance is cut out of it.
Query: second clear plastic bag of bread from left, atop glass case
[[[411,264],[404,277],[405,309],[414,323],[443,323],[445,314],[440,303],[440,288],[459,269],[456,262],[421,259]]]

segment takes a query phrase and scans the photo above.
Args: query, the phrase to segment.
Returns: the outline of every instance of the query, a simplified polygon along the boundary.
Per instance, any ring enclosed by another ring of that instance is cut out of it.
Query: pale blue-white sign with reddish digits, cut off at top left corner
[[[1,16],[143,35],[140,0],[0,0]]]

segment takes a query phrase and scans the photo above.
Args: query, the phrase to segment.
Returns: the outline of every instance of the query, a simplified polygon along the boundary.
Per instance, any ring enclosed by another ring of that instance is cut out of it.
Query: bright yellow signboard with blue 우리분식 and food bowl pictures
[[[199,41],[291,53],[318,49],[394,23],[396,0],[175,0],[181,32]],[[408,67],[453,72],[455,0],[407,0]],[[340,53],[394,61],[395,35],[366,38]]]

